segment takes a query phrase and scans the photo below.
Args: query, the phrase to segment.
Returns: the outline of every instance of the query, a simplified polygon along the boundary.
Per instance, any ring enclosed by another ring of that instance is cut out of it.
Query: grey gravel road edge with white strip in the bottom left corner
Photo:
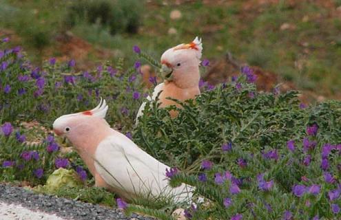
[[[30,212],[30,210],[34,212]],[[46,216],[41,213],[45,213]],[[6,218],[3,218],[1,214],[6,214]],[[123,212],[118,209],[73,201],[52,195],[36,194],[24,188],[0,184],[0,219],[7,220],[11,219],[11,217],[12,219],[20,220],[151,220],[138,214],[125,217]]]

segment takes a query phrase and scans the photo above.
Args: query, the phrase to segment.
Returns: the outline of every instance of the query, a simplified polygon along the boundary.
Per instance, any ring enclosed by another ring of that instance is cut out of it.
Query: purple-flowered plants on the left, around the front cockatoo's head
[[[57,168],[74,168],[87,179],[90,173],[76,153],[61,153],[60,144],[47,133],[44,140],[29,138],[21,122],[34,120],[49,128],[63,114],[92,109],[101,96],[110,105],[107,121],[127,133],[143,98],[141,63],[127,72],[123,61],[89,72],[76,72],[74,60],[59,64],[55,58],[34,67],[20,47],[1,49],[8,41],[0,42],[0,180],[42,184]]]

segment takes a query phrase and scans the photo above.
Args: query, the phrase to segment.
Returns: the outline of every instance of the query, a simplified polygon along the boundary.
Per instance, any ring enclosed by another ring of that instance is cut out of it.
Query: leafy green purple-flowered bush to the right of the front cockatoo
[[[152,102],[134,141],[183,170],[165,171],[171,186],[209,199],[187,219],[340,219],[341,102],[304,107],[296,91],[260,93],[254,79],[243,68],[175,119]]]

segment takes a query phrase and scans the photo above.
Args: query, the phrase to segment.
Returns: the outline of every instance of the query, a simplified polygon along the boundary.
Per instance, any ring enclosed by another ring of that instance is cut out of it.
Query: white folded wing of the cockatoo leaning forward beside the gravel
[[[118,195],[128,199],[144,195],[154,198],[169,196],[174,201],[189,201],[192,197],[191,186],[168,186],[165,169],[169,167],[117,131],[99,144],[94,165],[105,182]]]

